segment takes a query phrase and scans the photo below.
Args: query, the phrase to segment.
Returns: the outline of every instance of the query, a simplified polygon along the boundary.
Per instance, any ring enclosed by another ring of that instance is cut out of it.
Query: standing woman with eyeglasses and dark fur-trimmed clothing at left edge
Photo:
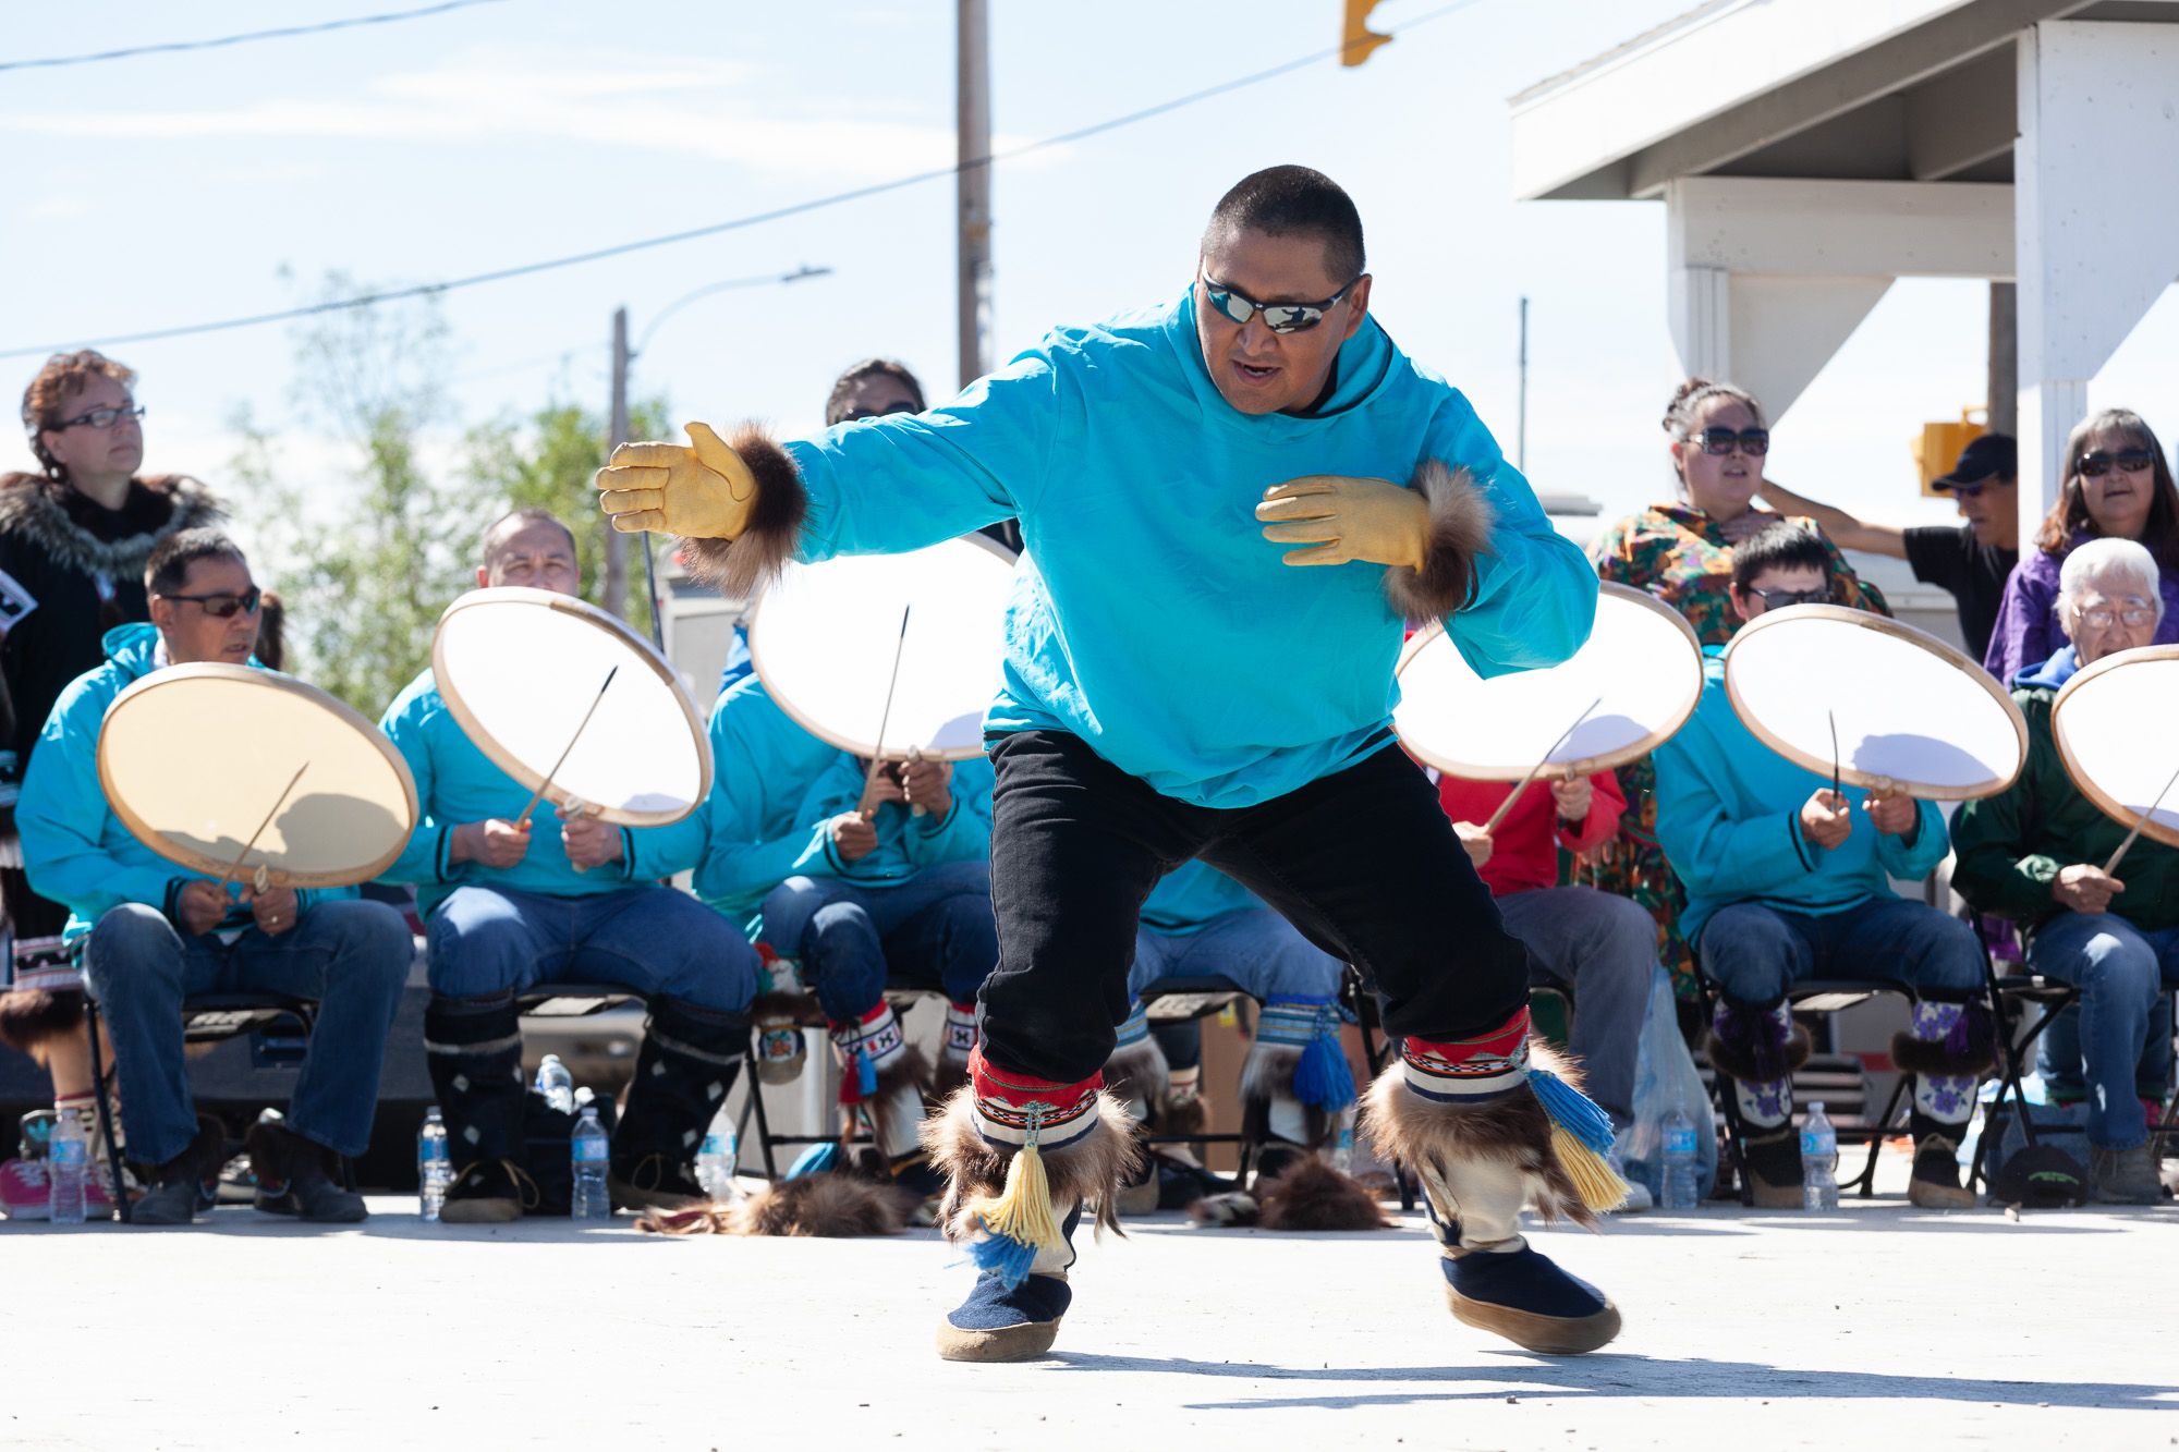
[[[15,839],[15,791],[52,702],[105,663],[105,632],[150,619],[144,562],[176,530],[220,519],[203,484],[144,475],[144,410],[135,373],[94,353],[54,353],[22,392],[35,473],[0,475],[0,685],[13,730],[0,737],[0,907],[13,953],[0,953],[0,1040],[52,1073],[54,1110],[89,1116],[83,988],[61,951],[68,909],[31,892]],[[85,1125],[89,1129],[89,1125]],[[26,1136],[28,1138],[28,1136]],[[98,1177],[92,1177],[96,1186]],[[89,1190],[92,1212],[105,1190]],[[37,1162],[0,1166],[0,1210],[44,1219]]]

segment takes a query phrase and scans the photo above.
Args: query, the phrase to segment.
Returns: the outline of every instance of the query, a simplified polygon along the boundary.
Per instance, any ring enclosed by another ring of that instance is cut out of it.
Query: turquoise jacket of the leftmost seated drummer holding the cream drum
[[[46,717],[31,750],[31,767],[15,802],[22,863],[31,887],[68,905],[63,937],[74,942],[113,907],[146,903],[168,918],[183,883],[218,881],[159,857],[107,809],[98,785],[98,730],[107,706],[131,685],[159,669],[159,632],[153,626],[107,630],[107,663],[76,676]],[[264,669],[251,661],[257,669]],[[181,759],[176,759],[181,761]],[[301,911],[327,898],[351,898],[353,887],[305,887]],[[246,927],[251,911],[238,898],[222,927]]]

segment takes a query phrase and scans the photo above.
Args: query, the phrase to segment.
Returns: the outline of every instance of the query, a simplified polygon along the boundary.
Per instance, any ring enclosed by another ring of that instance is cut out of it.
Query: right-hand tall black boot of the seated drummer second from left
[[[695,1155],[741,1077],[750,1018],[680,999],[654,999],[649,1007],[628,1112],[612,1129],[606,1190],[617,1210],[708,1206]]]

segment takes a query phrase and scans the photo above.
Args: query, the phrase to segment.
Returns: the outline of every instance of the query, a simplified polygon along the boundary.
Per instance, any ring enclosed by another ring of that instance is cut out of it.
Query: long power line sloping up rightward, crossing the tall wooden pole
[[[1408,24],[1390,31],[1390,35],[1401,35],[1405,31],[1419,31],[1434,20],[1442,20],[1456,11],[1464,11],[1482,0],[1451,0],[1451,4],[1440,4],[1434,11],[1425,11],[1410,20]],[[255,312],[240,318],[220,318],[216,323],[183,323],[179,327],[157,327],[142,334],[111,334],[107,338],[85,338],[76,342],[41,342],[35,347],[0,349],[0,358],[33,358],[39,353],[54,353],[70,347],[113,347],[122,342],[161,342],[166,338],[187,338],[194,334],[224,334],[238,327],[259,327],[264,323],[292,323],[296,318],[314,318],[327,312],[342,312],[349,307],[370,307],[373,303],[399,303],[414,297],[434,297],[438,292],[453,292],[458,288],[477,288],[484,283],[508,281],[514,277],[529,277],[534,273],[551,273],[558,268],[573,268],[586,262],[604,262],[608,257],[625,257],[628,253],[649,251],[654,246],[671,246],[675,242],[695,242],[697,238],[717,238],[728,231],[743,231],[750,227],[763,227],[765,222],[780,222],[791,216],[804,216],[811,211],[824,211],[826,207],[839,207],[852,201],[865,201],[869,196],[885,196],[887,192],[900,192],[906,187],[922,185],[926,181],[941,181],[957,172],[991,166],[996,161],[1013,161],[1039,150],[1050,150],[1052,146],[1068,146],[1072,142],[1085,142],[1094,135],[1105,135],[1107,131],[1118,131],[1122,126],[1133,126],[1135,122],[1153,120],[1170,111],[1179,111],[1218,96],[1229,96],[1233,92],[1246,89],[1251,85],[1262,85],[1264,81],[1277,81],[1279,76],[1292,74],[1318,61],[1329,61],[1349,50],[1347,44],[1331,46],[1327,50],[1312,50],[1310,55],[1297,57],[1273,65],[1270,70],[1257,70],[1246,76],[1235,76],[1233,81],[1222,81],[1218,85],[1203,87],[1201,92],[1188,92],[1185,96],[1174,96],[1172,100],[1161,100],[1140,111],[1127,111],[1124,116],[1111,116],[1087,126],[1076,126],[1074,131],[1061,131],[1057,135],[1039,137],[1035,142],[1022,142],[1020,146],[1009,146],[1007,150],[994,150],[985,157],[972,157],[967,161],[957,161],[954,166],[935,166],[926,172],[911,172],[906,177],[893,177],[891,181],[874,181],[869,185],[850,187],[845,192],[832,192],[830,196],[813,196],[808,201],[787,203],[784,207],[771,207],[769,211],[752,211],[747,216],[737,216],[726,222],[710,222],[708,227],[691,227],[686,231],[669,231],[656,238],[638,238],[634,242],[614,242],[612,246],[597,246],[586,253],[569,253],[564,257],[547,257],[543,262],[523,262],[516,266],[492,268],[490,273],[471,273],[468,277],[449,277],[436,283],[416,283],[410,288],[386,288],[381,292],[364,292],[357,297],[329,299],[322,303],[307,303],[303,307],[281,307],[277,312]]]

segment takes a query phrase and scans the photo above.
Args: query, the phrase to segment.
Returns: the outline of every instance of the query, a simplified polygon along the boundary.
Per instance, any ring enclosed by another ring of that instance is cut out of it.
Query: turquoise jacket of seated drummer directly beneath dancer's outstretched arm
[[[889,802],[874,820],[878,848],[843,861],[830,822],[863,800],[863,759],[802,730],[754,676],[719,698],[710,743],[710,848],[695,890],[752,937],[763,931],[765,894],[789,876],[887,887],[924,868],[991,855],[991,763],[983,757],[954,763],[952,811],[933,820]]]

